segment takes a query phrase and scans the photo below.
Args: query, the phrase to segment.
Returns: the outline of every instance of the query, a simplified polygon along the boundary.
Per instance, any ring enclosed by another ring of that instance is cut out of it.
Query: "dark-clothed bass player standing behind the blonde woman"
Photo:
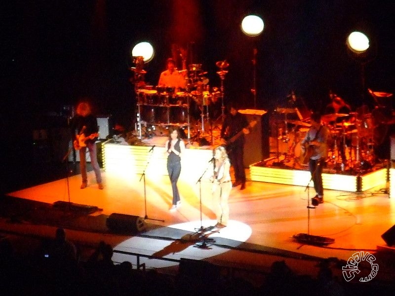
[[[234,103],[228,106],[229,113],[224,119],[221,128],[221,141],[226,145],[226,149],[231,160],[231,165],[235,172],[235,183],[233,187],[241,184],[240,190],[245,188],[245,171],[244,171],[244,134],[248,134],[249,130],[247,117],[238,112]],[[241,132],[242,131],[242,132]],[[239,136],[233,138],[236,134]],[[232,143],[230,139],[233,138]]]

